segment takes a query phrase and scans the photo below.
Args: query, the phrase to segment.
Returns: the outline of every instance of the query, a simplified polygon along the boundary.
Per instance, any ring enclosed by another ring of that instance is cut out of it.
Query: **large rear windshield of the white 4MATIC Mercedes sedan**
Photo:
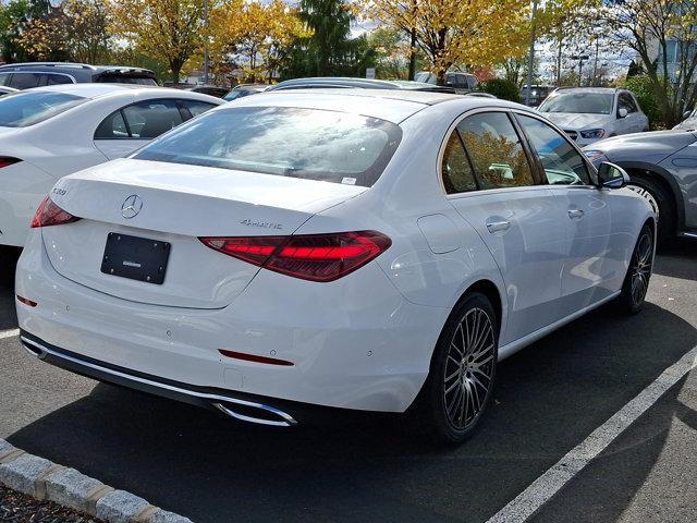
[[[135,158],[368,187],[401,136],[393,123],[357,114],[242,107],[197,118]]]

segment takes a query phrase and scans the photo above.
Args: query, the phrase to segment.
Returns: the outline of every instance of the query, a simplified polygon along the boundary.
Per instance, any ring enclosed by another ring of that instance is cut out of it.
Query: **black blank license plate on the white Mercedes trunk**
[[[168,242],[110,232],[101,258],[101,271],[105,275],[161,284],[167,272],[170,247]]]

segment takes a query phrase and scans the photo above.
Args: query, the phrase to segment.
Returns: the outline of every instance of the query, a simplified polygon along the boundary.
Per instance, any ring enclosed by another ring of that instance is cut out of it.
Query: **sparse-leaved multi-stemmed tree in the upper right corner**
[[[610,2],[603,13],[615,44],[640,61],[663,123],[675,125],[697,104],[697,2],[622,0]],[[677,62],[671,70],[673,46]]]

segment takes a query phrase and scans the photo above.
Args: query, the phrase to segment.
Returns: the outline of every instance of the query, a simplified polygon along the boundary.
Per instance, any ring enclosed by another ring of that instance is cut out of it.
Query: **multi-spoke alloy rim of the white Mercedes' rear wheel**
[[[492,319],[486,311],[470,308],[455,329],[443,372],[443,405],[454,428],[467,429],[482,411],[496,354]]]

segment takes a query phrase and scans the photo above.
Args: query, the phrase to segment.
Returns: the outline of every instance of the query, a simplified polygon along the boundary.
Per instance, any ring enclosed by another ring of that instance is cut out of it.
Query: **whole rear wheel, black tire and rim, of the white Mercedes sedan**
[[[476,340],[472,332],[479,328],[481,338]],[[458,351],[458,345],[465,350]],[[484,294],[468,294],[443,327],[426,384],[411,409],[412,422],[437,443],[465,441],[491,399],[498,356],[499,318],[493,306]]]

